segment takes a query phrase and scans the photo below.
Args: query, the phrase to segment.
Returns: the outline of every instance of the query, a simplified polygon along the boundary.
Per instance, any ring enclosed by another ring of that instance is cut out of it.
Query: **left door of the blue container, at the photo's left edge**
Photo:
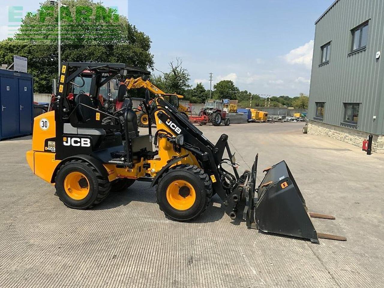
[[[0,78],[2,137],[19,134],[19,111],[16,79]]]

